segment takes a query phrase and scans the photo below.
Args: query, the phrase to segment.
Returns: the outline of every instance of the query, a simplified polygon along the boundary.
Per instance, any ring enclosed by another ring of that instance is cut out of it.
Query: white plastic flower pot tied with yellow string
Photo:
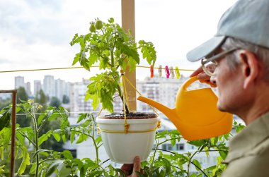
[[[124,119],[105,119],[103,116],[99,116],[96,118],[96,123],[101,130],[103,145],[108,157],[117,163],[132,164],[137,155],[141,161],[145,161],[149,157],[159,117],[127,119],[127,123],[130,124],[129,131],[145,131],[142,133],[111,133],[111,131],[124,132]]]

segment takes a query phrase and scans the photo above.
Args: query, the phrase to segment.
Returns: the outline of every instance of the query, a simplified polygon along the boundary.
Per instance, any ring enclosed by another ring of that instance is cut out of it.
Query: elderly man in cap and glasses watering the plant
[[[217,34],[189,51],[187,59],[202,63],[191,76],[218,87],[219,110],[246,123],[229,142],[222,177],[268,177],[269,0],[237,1],[219,20]]]

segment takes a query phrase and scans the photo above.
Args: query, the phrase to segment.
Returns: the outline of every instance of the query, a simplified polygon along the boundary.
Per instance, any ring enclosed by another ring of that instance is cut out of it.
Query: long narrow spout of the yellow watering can
[[[144,103],[147,103],[151,106],[154,106],[156,109],[158,109],[159,111],[164,113],[164,115],[166,115],[171,121],[173,121],[173,119],[178,117],[175,109],[168,108],[167,106],[164,106],[163,104],[160,104],[159,102],[156,102],[152,99],[139,96],[139,97],[137,97],[137,100],[144,102]]]

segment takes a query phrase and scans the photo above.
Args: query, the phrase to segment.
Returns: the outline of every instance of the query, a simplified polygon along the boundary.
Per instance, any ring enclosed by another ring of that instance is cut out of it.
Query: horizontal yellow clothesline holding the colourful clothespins
[[[99,66],[91,66],[91,68],[97,68]],[[138,68],[150,68],[150,66],[137,66]],[[76,67],[65,67],[65,68],[38,68],[38,69],[25,69],[25,70],[9,70],[9,71],[0,71],[0,73],[16,73],[16,72],[24,72],[24,71],[47,71],[47,70],[62,70],[62,69],[78,69],[83,68],[82,66]],[[159,69],[159,68],[154,68]],[[166,69],[166,68],[161,68]],[[179,71],[195,71],[193,69],[178,69]]]

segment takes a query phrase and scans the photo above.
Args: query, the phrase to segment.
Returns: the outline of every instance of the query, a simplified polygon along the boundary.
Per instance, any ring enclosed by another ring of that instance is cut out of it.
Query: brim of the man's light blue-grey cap
[[[224,42],[226,36],[214,36],[187,53],[188,61],[194,62],[210,56]]]

